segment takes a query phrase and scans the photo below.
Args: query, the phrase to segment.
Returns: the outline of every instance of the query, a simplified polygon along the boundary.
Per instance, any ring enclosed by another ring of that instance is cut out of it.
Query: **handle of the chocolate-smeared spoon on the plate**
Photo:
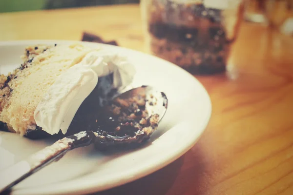
[[[66,152],[92,143],[93,132],[80,132],[73,136],[64,137],[45,147],[41,151],[29,156],[25,160],[6,168],[0,172],[0,193],[9,190],[23,179],[41,170],[53,161],[58,161]]]

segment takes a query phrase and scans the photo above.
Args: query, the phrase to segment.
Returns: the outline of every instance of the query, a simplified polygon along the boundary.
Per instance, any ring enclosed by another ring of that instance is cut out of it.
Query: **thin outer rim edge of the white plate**
[[[144,176],[150,175],[160,169],[162,169],[163,167],[166,167],[168,164],[172,163],[173,161],[175,161],[176,159],[178,159],[179,157],[183,156],[185,153],[187,153],[196,143],[197,141],[200,139],[200,137],[203,135],[204,131],[206,130],[209,121],[210,121],[210,117],[211,117],[211,113],[212,113],[212,104],[211,104],[211,99],[209,97],[209,93],[207,92],[206,88],[203,86],[203,84],[197,79],[195,78],[193,75],[191,75],[190,73],[188,73],[186,70],[184,70],[183,68],[181,68],[180,66],[171,63],[165,59],[161,59],[159,57],[156,57],[154,55],[150,55],[148,53],[142,52],[142,51],[138,51],[138,50],[134,50],[134,49],[130,49],[130,48],[126,48],[126,47],[122,47],[122,46],[115,46],[115,45],[108,45],[108,44],[104,44],[104,43],[96,43],[96,42],[87,42],[87,41],[80,41],[80,40],[64,40],[64,39],[27,39],[27,40],[6,40],[6,41],[0,41],[0,46],[9,46],[9,45],[14,45],[14,46],[24,46],[24,45],[33,45],[33,44],[52,44],[52,43],[57,43],[57,44],[72,44],[72,43],[80,43],[80,44],[85,44],[85,45],[94,45],[94,46],[101,46],[101,47],[115,47],[117,49],[122,49],[122,50],[128,50],[128,52],[132,53],[139,53],[140,55],[144,55],[147,58],[153,58],[155,60],[159,60],[162,61],[163,63],[168,64],[169,66],[173,66],[176,67],[178,69],[178,71],[181,71],[182,73],[186,74],[186,76],[188,76],[189,78],[193,79],[197,85],[199,85],[199,87],[201,88],[202,92],[205,93],[206,96],[206,103],[207,103],[207,107],[206,107],[206,118],[204,121],[202,121],[201,123],[201,127],[200,132],[198,133],[198,136],[192,139],[192,143],[188,144],[188,147],[183,147],[182,150],[180,150],[180,152],[175,153],[176,155],[172,155],[172,157],[169,157],[167,160],[161,160],[160,163],[153,163],[152,166],[146,167],[144,170],[141,171],[137,171],[136,175],[133,177],[127,177],[125,180],[121,181],[121,179],[116,179],[115,182],[112,182],[111,185],[107,185],[105,187],[95,187],[92,184],[89,184],[86,186],[86,188],[83,188],[82,186],[80,186],[79,188],[76,189],[69,189],[67,192],[65,192],[66,194],[88,194],[88,193],[95,193],[95,192],[101,192],[101,191],[105,191],[111,188],[115,188],[121,185],[124,185],[126,183],[135,181],[139,178],[142,178]],[[12,190],[11,193],[12,194],[26,194],[29,191],[32,191],[34,189],[36,190],[41,190],[46,188],[46,186],[52,186],[54,184],[47,184],[43,187],[35,187],[35,188],[29,188],[29,189],[16,189],[16,190]],[[55,184],[56,185],[56,184]],[[84,186],[84,185],[83,185]],[[53,192],[53,191],[52,191]],[[46,192],[46,193],[52,193],[52,192]],[[56,191],[54,191],[56,193]],[[58,192],[57,194],[63,194],[64,192]]]

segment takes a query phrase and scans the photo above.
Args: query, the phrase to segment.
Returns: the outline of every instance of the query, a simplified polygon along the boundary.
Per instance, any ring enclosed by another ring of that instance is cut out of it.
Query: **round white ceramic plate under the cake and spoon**
[[[6,74],[21,63],[27,45],[68,44],[73,41],[27,40],[0,42],[0,73]],[[209,95],[192,75],[178,66],[126,48],[102,46],[128,57],[136,67],[135,85],[152,85],[165,92],[168,109],[150,144],[139,150],[102,154],[93,147],[67,153],[13,188],[13,195],[86,194],[106,190],[146,176],[186,153],[206,128],[211,115]],[[49,145],[0,132],[0,170]],[[0,178],[3,179],[3,178]]]

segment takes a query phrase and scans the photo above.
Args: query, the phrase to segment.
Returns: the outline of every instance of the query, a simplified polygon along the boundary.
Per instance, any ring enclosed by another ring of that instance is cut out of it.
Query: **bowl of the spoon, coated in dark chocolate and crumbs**
[[[167,97],[142,86],[114,98],[104,109],[94,131],[98,150],[146,142],[166,113]]]

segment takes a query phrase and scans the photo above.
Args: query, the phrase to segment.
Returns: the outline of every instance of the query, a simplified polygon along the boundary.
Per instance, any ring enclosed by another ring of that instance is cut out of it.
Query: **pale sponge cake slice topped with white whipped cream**
[[[33,138],[66,134],[84,99],[99,95],[101,104],[135,73],[126,59],[82,44],[29,46],[22,59],[0,76],[0,130]]]

